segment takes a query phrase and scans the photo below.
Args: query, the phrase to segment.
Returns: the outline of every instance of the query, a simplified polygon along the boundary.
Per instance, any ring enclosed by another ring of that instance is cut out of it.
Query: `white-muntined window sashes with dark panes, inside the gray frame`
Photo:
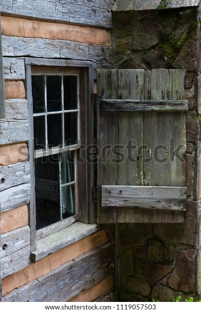
[[[76,214],[79,70],[32,71],[36,228]]]

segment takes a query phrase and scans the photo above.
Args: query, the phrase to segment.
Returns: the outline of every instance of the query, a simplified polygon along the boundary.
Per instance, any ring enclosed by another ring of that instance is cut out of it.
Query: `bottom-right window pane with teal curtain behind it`
[[[74,214],[74,184],[61,187],[62,217],[63,219]]]

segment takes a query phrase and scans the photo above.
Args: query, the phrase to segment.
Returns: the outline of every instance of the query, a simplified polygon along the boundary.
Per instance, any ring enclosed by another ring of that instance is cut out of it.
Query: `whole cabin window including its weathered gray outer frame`
[[[86,146],[93,143],[93,80],[88,61],[26,58],[25,62],[34,252],[37,241],[73,222],[95,221],[93,164],[85,161]],[[58,249],[65,244],[62,241]]]

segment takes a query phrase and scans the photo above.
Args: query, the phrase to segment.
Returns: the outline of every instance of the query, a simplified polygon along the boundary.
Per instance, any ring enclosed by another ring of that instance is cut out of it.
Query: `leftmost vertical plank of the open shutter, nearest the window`
[[[118,144],[118,113],[100,112],[100,99],[117,99],[117,94],[118,70],[97,70],[97,148],[100,154],[97,163],[98,223],[117,222],[117,209],[101,209],[101,189],[104,184],[118,185],[118,164],[111,162],[114,158],[111,148]]]

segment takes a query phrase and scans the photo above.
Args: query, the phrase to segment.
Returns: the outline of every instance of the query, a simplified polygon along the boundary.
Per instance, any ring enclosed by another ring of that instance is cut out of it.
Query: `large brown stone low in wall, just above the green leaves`
[[[169,286],[171,288],[191,292],[194,291],[193,250],[182,251],[176,258],[176,269],[171,274]]]

